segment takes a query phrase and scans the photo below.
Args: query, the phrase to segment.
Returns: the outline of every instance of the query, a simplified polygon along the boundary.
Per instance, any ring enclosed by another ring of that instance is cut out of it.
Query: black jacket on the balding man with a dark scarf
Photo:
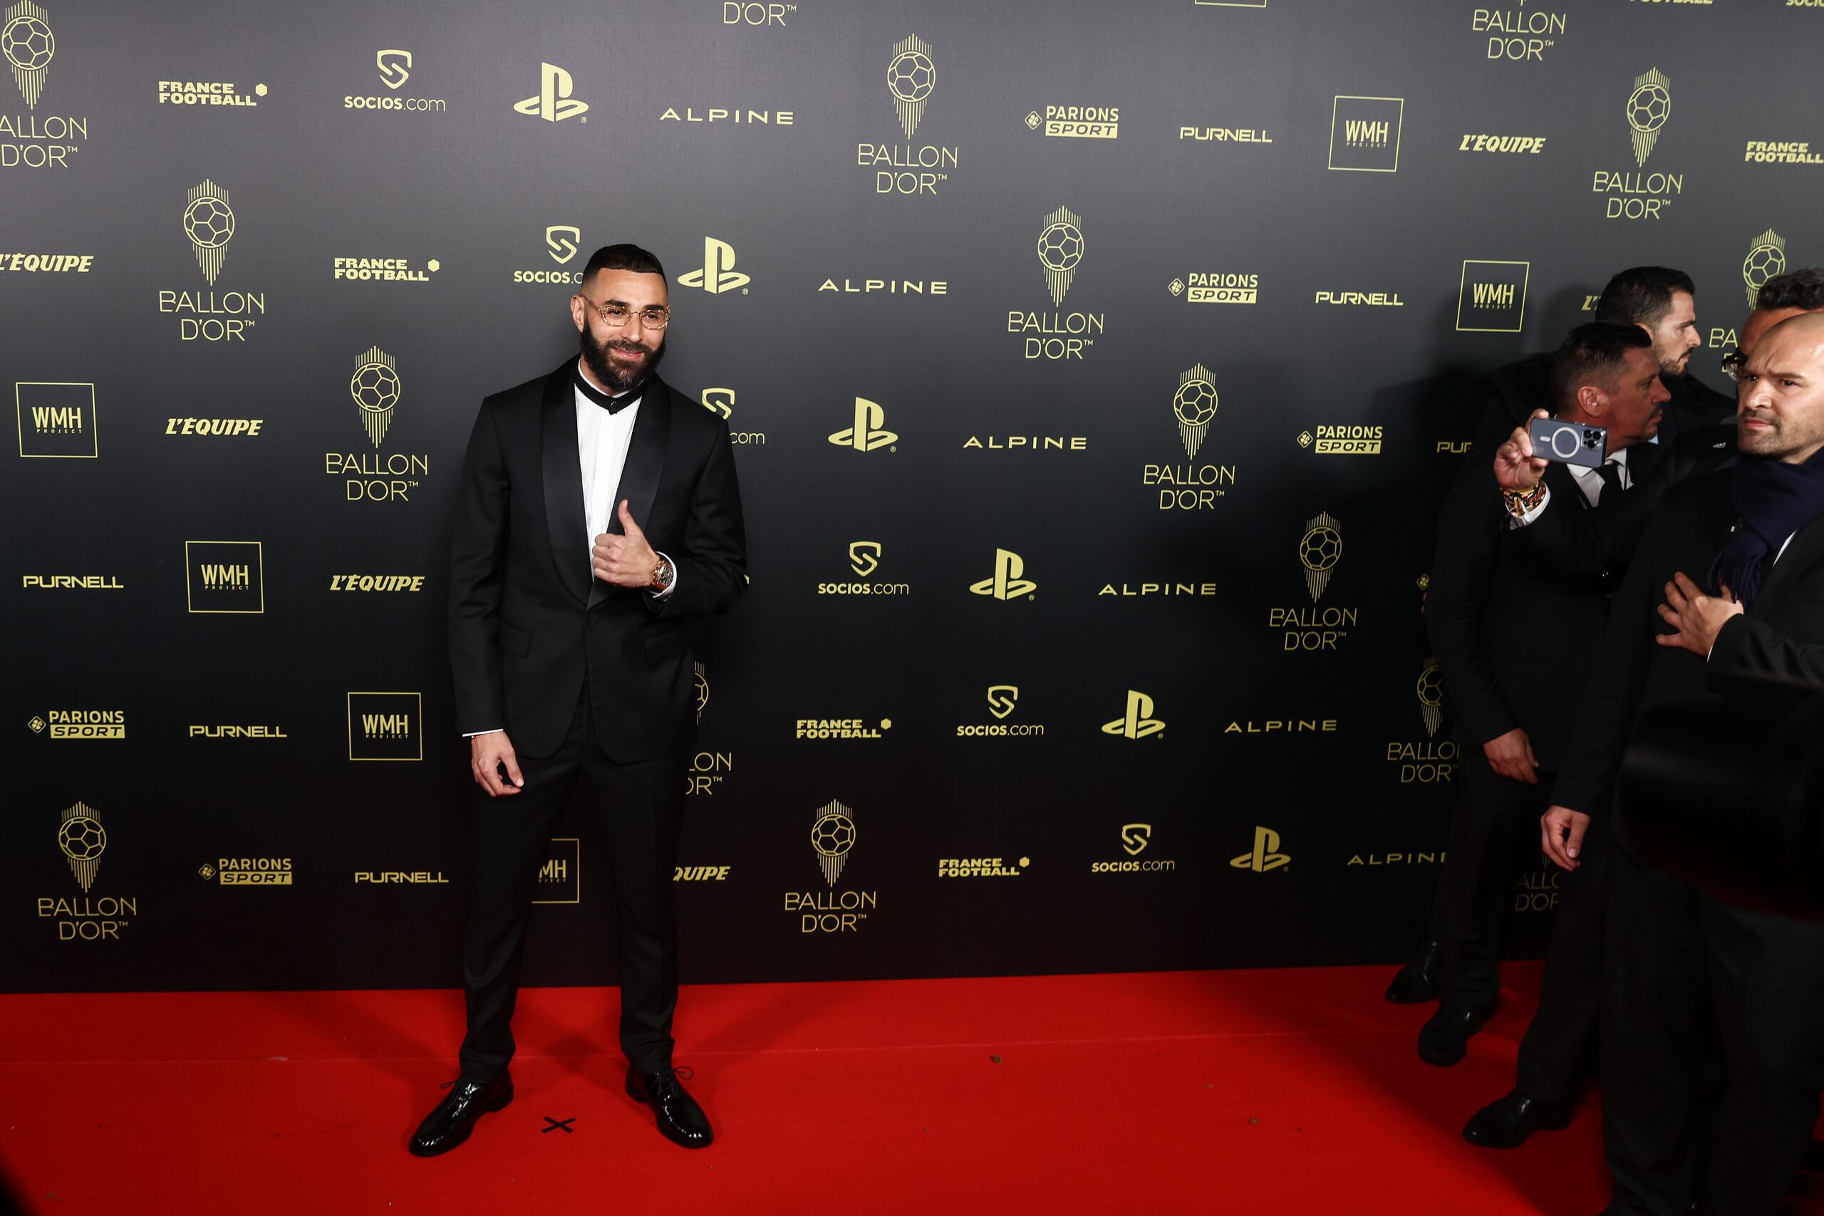
[[[1702,585],[1729,538],[1729,478],[1724,470],[1676,487],[1647,525],[1616,591],[1552,802],[1596,817],[1609,809],[1622,751],[1643,709],[1704,696],[1713,680],[1746,673],[1824,684],[1824,516],[1798,529],[1778,562],[1762,569],[1760,596],[1724,623],[1707,662],[1653,640],[1673,633],[1658,614],[1673,572]]]

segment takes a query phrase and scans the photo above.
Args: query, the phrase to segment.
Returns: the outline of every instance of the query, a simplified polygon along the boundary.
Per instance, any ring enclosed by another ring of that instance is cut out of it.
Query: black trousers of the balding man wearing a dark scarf
[[[1684,1216],[1702,1169],[1713,1212],[1771,1216],[1824,1090],[1824,924],[1722,902],[1623,848],[1609,881],[1609,1211]],[[1707,1112],[1718,1039],[1724,1088]]]

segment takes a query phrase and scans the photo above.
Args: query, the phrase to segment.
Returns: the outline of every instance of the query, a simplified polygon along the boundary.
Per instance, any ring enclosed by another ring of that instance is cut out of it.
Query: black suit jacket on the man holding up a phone
[[[1654,445],[1629,448],[1632,483],[1651,478],[1658,459]],[[1545,483],[1547,516],[1589,509],[1563,465],[1549,465]],[[1587,671],[1563,654],[1601,636],[1607,585],[1601,571],[1565,572],[1521,543],[1507,527],[1492,448],[1470,448],[1437,518],[1425,598],[1425,631],[1465,746],[1518,726],[1539,768],[1558,769]]]

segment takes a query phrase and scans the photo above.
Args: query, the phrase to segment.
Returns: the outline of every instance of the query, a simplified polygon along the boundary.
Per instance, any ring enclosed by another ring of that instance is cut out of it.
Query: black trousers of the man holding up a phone
[[[1539,815],[1550,789],[1547,773],[1538,786],[1508,780],[1488,768],[1481,747],[1463,747],[1457,806],[1450,815],[1445,871],[1437,879],[1445,913],[1441,1005],[1494,1006],[1501,988],[1496,972],[1501,928],[1514,902],[1514,868],[1527,842],[1538,848]]]

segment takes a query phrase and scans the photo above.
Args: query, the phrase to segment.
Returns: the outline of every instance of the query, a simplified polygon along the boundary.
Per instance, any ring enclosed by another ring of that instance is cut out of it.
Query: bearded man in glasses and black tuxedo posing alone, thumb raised
[[[746,591],[728,425],[655,376],[658,259],[596,250],[571,297],[582,357],[482,403],[451,529],[456,722],[478,795],[461,1076],[412,1138],[449,1152],[513,1101],[513,1005],[533,886],[578,777],[607,831],[627,1094],[700,1149],[671,1070],[677,866],[695,733],[686,620]]]

